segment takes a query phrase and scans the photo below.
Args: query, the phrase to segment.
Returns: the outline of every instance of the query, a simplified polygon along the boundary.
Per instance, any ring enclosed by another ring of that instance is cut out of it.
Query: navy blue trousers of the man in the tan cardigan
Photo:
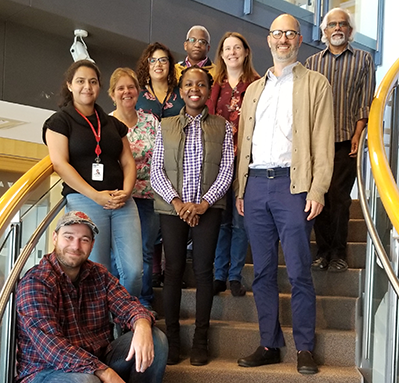
[[[297,350],[314,349],[315,290],[311,276],[313,221],[304,212],[306,193],[290,194],[290,178],[249,177],[244,218],[254,263],[253,293],[261,345],[283,347],[279,323],[278,244],[292,286],[293,337]]]

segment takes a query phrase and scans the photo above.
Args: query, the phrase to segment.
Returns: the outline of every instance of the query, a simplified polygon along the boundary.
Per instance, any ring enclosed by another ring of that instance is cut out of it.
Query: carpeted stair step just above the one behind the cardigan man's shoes
[[[161,291],[155,292],[153,309],[164,316]],[[279,320],[283,326],[292,325],[290,294],[280,294]],[[317,296],[317,320],[319,329],[354,330],[357,298]],[[194,318],[196,313],[196,290],[182,290],[181,318]],[[340,315],[337,315],[340,313]],[[233,297],[229,291],[214,297],[212,320],[258,323],[253,293],[244,297]]]

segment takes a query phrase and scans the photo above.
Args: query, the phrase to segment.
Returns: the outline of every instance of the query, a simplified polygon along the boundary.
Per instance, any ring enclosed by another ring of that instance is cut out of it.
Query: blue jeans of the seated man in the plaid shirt
[[[135,370],[135,357],[125,358],[131,345],[132,332],[128,332],[111,343],[112,349],[102,362],[112,368],[126,383],[161,383],[168,357],[168,341],[165,334],[153,327],[154,361],[143,373]],[[36,374],[32,383],[101,383],[94,374],[64,372],[61,370],[43,370]]]

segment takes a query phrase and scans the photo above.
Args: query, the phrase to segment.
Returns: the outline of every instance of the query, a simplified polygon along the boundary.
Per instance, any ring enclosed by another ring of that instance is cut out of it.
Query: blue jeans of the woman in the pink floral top
[[[152,283],[154,244],[160,231],[160,217],[154,212],[154,200],[145,198],[134,198],[134,200],[142,227],[143,277],[139,300],[143,306],[150,307],[154,298]]]

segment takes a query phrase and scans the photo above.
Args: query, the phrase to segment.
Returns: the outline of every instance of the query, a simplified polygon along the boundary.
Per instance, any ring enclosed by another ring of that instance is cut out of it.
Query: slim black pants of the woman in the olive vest
[[[213,300],[213,262],[217,246],[221,209],[208,209],[199,225],[191,229],[193,239],[193,271],[196,278],[196,333],[207,336]],[[186,266],[189,225],[178,216],[160,214],[165,251],[164,313],[167,336],[179,339],[179,312],[182,277]]]

